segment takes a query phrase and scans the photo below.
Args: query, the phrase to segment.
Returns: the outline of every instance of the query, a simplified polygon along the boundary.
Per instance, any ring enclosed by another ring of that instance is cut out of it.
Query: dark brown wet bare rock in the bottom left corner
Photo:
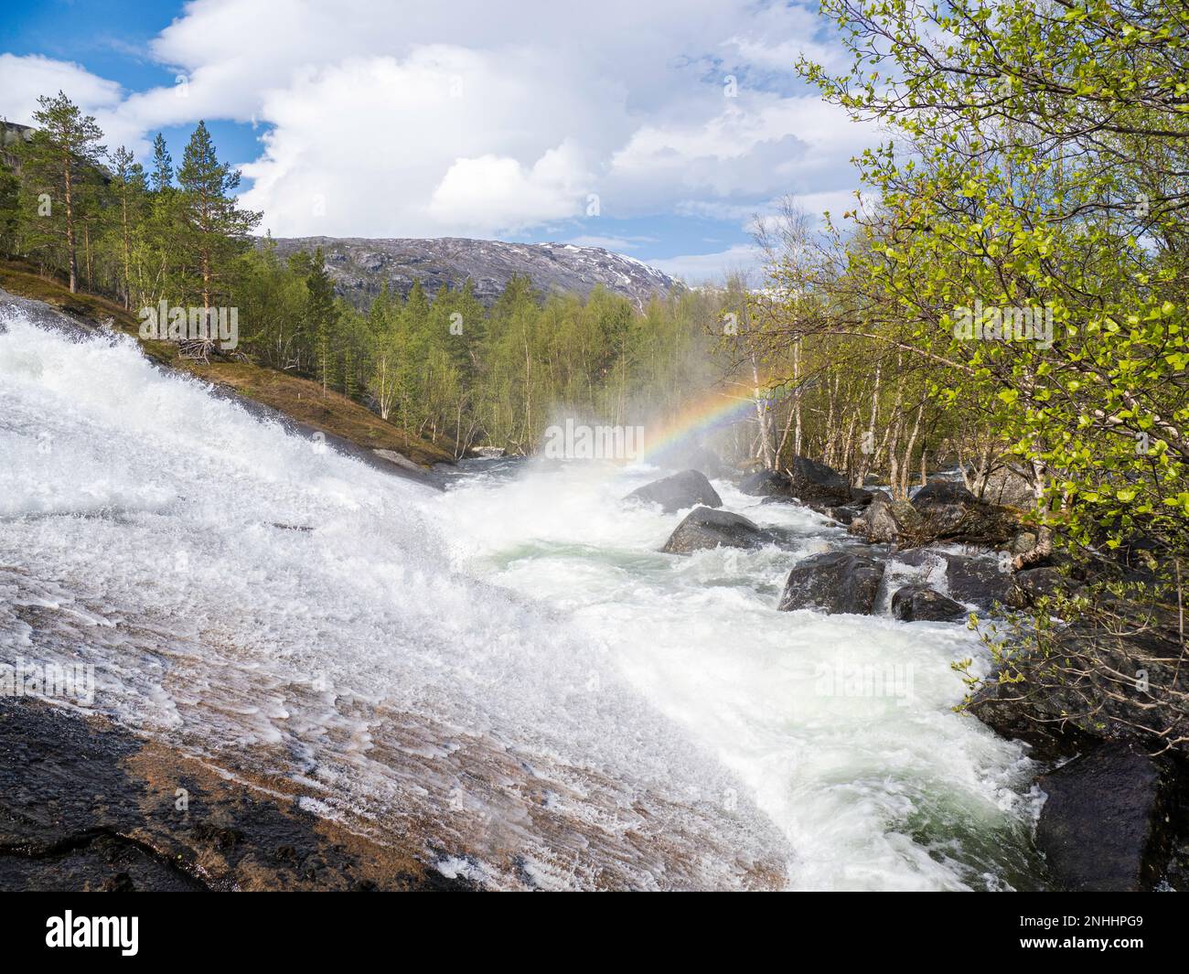
[[[0,890],[473,888],[271,784],[99,717],[0,699]]]

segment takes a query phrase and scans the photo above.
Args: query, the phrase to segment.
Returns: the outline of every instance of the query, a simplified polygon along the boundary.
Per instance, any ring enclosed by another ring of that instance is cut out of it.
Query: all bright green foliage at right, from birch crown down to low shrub
[[[1004,626],[971,621],[995,679],[1026,684],[1018,698],[1068,703],[1051,719],[1138,721],[1179,746],[1184,691],[1179,665],[1165,664],[1170,647],[1184,654],[1189,554],[1183,6],[823,10],[851,64],[831,75],[806,62],[803,74],[894,142],[860,159],[875,202],[845,214],[851,233],[835,230],[807,266],[775,269],[793,295],[781,312],[825,346],[857,337],[926,363],[929,402],[1036,478],[1040,543],[1017,564],[1051,545],[1078,580]],[[975,314],[988,308],[987,321]],[[1005,309],[1051,334],[973,333]],[[969,665],[956,668],[974,687]]]

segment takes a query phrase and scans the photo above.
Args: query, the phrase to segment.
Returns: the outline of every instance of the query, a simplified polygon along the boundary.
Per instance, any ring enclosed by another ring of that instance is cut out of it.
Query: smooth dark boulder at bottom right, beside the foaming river
[[[1070,892],[1151,890],[1172,848],[1162,767],[1131,743],[1105,743],[1039,780],[1036,844]]]

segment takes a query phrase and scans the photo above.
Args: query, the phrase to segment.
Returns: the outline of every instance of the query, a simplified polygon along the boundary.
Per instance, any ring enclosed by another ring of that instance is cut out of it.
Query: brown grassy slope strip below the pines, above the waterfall
[[[119,304],[93,295],[70,294],[62,284],[39,277],[23,264],[0,260],[0,288],[20,297],[44,301],[90,321],[109,318],[117,328],[137,338],[139,319]],[[422,465],[453,460],[446,450],[417,436],[405,438],[400,428],[359,403],[339,392],[323,392],[316,382],[250,363],[190,362],[181,358],[177,346],[166,341],[140,341],[140,345],[145,354],[157,362],[234,389],[247,398],[278,409],[308,426],[351,440],[357,446],[392,450]]]

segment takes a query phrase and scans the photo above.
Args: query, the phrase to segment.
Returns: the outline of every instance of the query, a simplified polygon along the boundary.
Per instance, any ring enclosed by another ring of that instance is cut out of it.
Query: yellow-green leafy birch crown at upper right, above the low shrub
[[[1189,40],[1171,5],[828,0],[853,68],[825,96],[898,130],[866,152],[844,315],[940,367],[1043,477],[1070,545],[1143,529],[1184,551]],[[956,337],[1039,312],[1044,341]],[[836,320],[841,316],[835,309]]]

